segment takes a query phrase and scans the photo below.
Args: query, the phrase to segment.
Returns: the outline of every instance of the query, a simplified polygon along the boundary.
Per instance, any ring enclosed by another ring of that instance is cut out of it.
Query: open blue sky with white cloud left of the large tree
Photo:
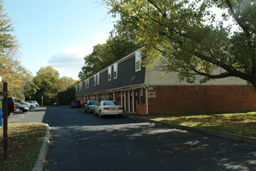
[[[33,76],[52,65],[60,77],[79,79],[83,58],[114,29],[102,0],[3,0],[3,7],[19,41],[19,61]]]

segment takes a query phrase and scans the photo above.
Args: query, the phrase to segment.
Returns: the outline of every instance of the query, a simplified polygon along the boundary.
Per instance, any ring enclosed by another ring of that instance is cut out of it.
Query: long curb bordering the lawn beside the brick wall
[[[183,131],[190,131],[190,132],[196,132],[196,133],[201,133],[201,134],[207,134],[207,135],[212,135],[212,136],[216,136],[216,137],[219,137],[219,138],[226,138],[226,139],[231,139],[231,140],[234,140],[234,141],[246,142],[246,143],[249,143],[249,144],[256,145],[256,138],[252,138],[252,137],[246,137],[246,136],[242,136],[242,135],[230,134],[230,133],[220,132],[220,131],[213,131],[213,130],[198,128],[198,127],[188,127],[188,126],[184,126],[184,125],[181,125],[181,124],[170,124],[170,123],[166,123],[166,122],[161,122],[161,121],[157,121],[157,120],[150,120],[150,119],[146,119],[146,118],[142,118],[142,117],[135,117],[135,116],[130,116],[130,115],[126,115],[126,117],[131,118],[131,119],[135,119],[135,120],[146,121],[146,122],[153,123],[153,124],[160,124],[160,125],[163,125],[165,127],[176,128],[176,129],[180,129],[180,130],[183,130]]]

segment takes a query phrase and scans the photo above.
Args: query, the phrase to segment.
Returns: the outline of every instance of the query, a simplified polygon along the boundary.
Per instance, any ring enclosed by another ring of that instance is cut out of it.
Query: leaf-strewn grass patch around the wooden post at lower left
[[[0,139],[3,138],[0,127]],[[32,170],[37,161],[46,134],[45,124],[9,123],[8,159],[3,158],[0,144],[0,170]]]

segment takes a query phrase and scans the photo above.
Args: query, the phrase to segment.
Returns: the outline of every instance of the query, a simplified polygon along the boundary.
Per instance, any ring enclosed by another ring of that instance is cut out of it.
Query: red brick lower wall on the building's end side
[[[256,93],[247,86],[153,86],[151,113],[235,113],[256,111]]]

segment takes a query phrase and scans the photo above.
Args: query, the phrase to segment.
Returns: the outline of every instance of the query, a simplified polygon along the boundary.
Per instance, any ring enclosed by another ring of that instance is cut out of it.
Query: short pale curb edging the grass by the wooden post
[[[35,166],[33,167],[32,171],[39,171],[39,170],[41,171],[44,168],[45,157],[47,154],[47,147],[50,142],[50,136],[51,136],[49,125],[45,124],[45,126],[46,126],[46,134],[45,134],[45,138],[43,141],[43,145],[40,149],[40,153],[38,155],[37,162],[36,162]]]

